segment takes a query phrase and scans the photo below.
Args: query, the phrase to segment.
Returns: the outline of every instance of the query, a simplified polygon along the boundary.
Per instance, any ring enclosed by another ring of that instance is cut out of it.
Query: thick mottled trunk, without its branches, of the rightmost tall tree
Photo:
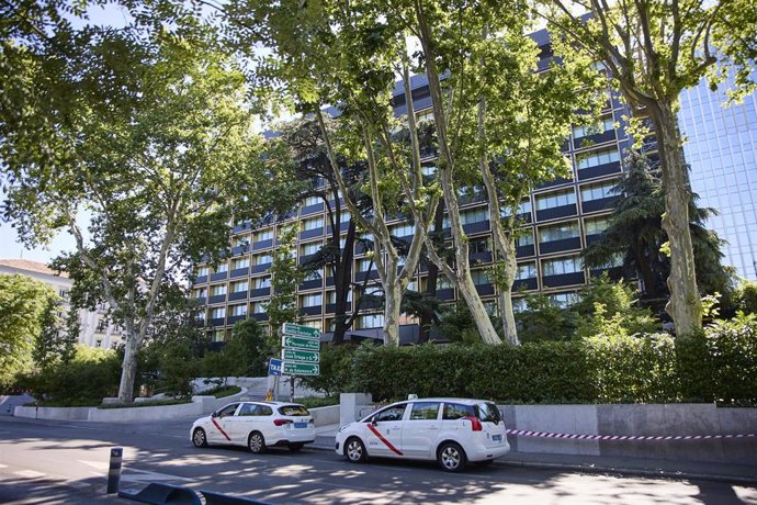
[[[649,113],[657,134],[665,188],[663,227],[670,242],[670,277],[667,280],[670,301],[666,311],[676,325],[676,334],[685,335],[702,329],[702,304],[689,228],[691,188],[675,105],[675,102],[659,100],[656,108],[649,108]]]

